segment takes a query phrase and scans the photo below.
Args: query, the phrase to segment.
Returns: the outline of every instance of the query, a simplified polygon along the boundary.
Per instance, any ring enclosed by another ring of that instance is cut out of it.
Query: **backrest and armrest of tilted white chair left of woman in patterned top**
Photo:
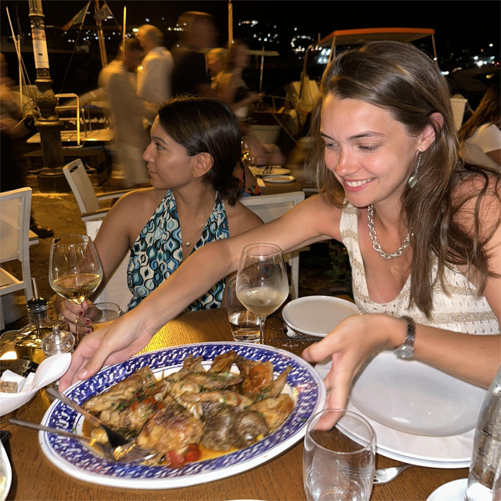
[[[130,189],[122,189],[120,191],[110,191],[110,193],[96,195],[94,187],[90,182],[90,178],[86,172],[86,167],[82,160],[74,160],[73,162],[63,167],[66,181],[73,191],[76,202],[82,213],[84,223],[96,219],[102,219],[106,216],[109,208],[100,208],[99,202],[102,200],[119,199],[122,195],[132,191]]]

